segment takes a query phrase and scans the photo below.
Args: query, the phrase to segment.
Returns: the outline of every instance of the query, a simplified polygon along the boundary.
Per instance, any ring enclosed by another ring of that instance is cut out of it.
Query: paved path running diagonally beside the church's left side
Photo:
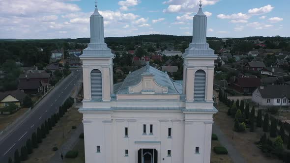
[[[70,138],[58,149],[55,156],[52,157],[49,161],[49,163],[63,163],[63,161],[60,158],[60,154],[62,153],[63,159],[65,159],[65,154],[69,150],[72,150],[74,146],[78,143],[80,140],[79,136],[81,133],[84,132],[84,126],[83,123],[81,123],[76,130],[72,133]]]

